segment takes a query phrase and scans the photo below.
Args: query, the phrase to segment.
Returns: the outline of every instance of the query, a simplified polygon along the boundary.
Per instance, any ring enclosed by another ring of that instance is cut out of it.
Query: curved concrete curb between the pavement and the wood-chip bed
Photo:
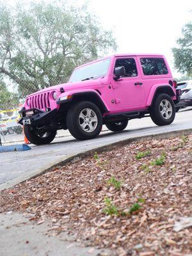
[[[33,174],[22,175],[16,179],[13,179],[13,180],[10,180],[9,182],[1,184],[0,191],[3,189],[12,188],[13,186],[15,186],[19,183],[22,183],[26,180],[38,177],[39,175],[41,175],[45,172],[49,172],[54,168],[60,168],[61,166],[64,166],[67,163],[76,163],[77,161],[81,161],[81,159],[83,159],[84,157],[90,156],[90,155],[94,154],[95,152],[99,153],[99,152],[104,152],[107,150],[113,150],[113,148],[116,148],[118,145],[122,146],[122,145],[126,145],[128,143],[138,141],[138,140],[152,140],[152,139],[163,140],[163,139],[168,139],[168,138],[175,138],[175,137],[182,136],[182,135],[188,135],[191,133],[192,133],[192,129],[190,128],[190,129],[183,129],[180,131],[171,131],[171,132],[166,132],[166,133],[161,132],[159,134],[151,134],[151,135],[145,135],[145,136],[141,135],[141,136],[136,136],[134,138],[127,138],[125,140],[120,140],[118,142],[109,143],[108,145],[104,145],[101,147],[95,147],[93,149],[87,150],[82,153],[72,154],[67,157],[61,157],[61,159],[59,159],[55,162],[52,162],[51,164],[47,164],[47,166],[44,166],[44,168],[40,168],[40,169],[36,170]]]

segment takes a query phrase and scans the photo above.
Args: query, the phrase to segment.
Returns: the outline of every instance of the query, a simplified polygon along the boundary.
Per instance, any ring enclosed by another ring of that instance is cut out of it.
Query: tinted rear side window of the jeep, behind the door
[[[163,58],[141,58],[140,62],[145,76],[168,74]]]

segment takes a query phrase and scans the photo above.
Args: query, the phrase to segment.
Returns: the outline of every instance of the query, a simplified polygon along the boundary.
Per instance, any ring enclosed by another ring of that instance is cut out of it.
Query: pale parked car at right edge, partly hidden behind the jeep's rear
[[[176,111],[179,111],[179,109],[192,106],[192,80],[179,82],[177,86],[182,93],[180,102],[175,105]]]

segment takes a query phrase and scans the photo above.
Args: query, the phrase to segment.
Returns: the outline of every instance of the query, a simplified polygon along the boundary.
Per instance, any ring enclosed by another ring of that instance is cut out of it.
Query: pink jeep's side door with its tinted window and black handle
[[[119,105],[119,109],[123,111],[145,108],[145,90],[136,57],[116,57],[113,70],[122,66],[125,67],[125,77],[113,81],[115,104]]]

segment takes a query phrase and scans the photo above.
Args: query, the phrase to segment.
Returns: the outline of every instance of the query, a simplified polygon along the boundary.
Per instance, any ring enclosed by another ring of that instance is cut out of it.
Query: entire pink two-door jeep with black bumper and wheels
[[[97,137],[105,124],[122,131],[129,120],[150,114],[157,125],[171,124],[180,90],[159,54],[116,54],[77,67],[68,83],[26,98],[19,124],[31,143],[50,143],[59,129],[77,140]]]

